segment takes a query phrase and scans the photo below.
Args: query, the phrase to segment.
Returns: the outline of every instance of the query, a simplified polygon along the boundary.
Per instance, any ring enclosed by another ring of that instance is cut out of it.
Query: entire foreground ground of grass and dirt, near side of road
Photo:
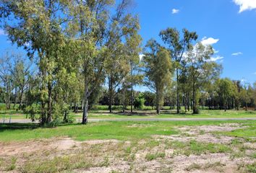
[[[256,120],[0,125],[0,172],[256,172]]]

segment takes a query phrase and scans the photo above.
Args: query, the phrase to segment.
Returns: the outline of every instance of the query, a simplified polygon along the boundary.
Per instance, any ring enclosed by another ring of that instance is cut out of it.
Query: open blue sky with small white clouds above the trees
[[[142,45],[150,38],[161,42],[158,34],[167,27],[187,28],[213,45],[221,77],[256,81],[256,0],[135,0],[132,11],[140,18]],[[0,29],[0,55],[7,49],[17,47]]]

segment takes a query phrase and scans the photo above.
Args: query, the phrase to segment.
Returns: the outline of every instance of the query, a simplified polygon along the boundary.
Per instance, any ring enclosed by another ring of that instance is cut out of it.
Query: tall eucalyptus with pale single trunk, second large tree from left
[[[137,17],[127,12],[129,1],[114,6],[113,0],[69,1],[67,35],[75,45],[78,68],[83,76],[82,123],[88,122],[88,99],[105,79],[107,61],[115,61],[116,45],[139,29]],[[111,14],[113,12],[114,14]]]

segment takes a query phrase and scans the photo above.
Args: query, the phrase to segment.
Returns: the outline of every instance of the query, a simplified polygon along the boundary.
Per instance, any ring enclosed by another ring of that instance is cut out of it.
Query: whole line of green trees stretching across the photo
[[[255,106],[256,86],[220,79],[222,67],[211,61],[214,50],[202,45],[196,32],[167,28],[162,43],[148,40],[142,48],[137,14],[131,0],[0,0],[1,27],[26,56],[3,53],[0,60],[0,101],[40,114],[40,123],[63,119],[98,102],[123,111],[143,102],[174,106],[179,113]],[[145,85],[151,92],[138,93]]]

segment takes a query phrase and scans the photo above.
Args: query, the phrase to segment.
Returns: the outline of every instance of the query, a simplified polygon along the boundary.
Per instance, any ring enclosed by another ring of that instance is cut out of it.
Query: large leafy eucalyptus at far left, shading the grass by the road
[[[52,91],[56,59],[64,46],[62,34],[65,1],[0,1],[0,17],[9,40],[25,48],[27,56],[38,56],[41,123],[52,120]],[[15,22],[13,22],[15,21]]]

